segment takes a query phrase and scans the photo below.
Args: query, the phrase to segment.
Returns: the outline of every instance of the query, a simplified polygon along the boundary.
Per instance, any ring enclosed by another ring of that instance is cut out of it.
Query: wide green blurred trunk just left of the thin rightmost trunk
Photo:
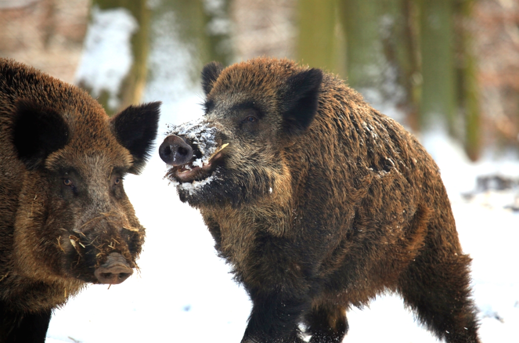
[[[423,0],[421,4],[421,116],[444,116],[450,134],[456,128],[453,0]],[[422,119],[420,126],[431,124]]]

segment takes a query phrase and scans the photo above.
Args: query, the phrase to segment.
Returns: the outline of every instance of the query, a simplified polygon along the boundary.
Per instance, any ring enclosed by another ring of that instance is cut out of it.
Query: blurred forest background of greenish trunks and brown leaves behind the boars
[[[131,58],[117,90],[95,89],[78,72],[102,63],[89,28],[119,8]],[[84,87],[108,113],[142,101],[159,72],[150,46],[168,32],[188,51],[187,87],[212,60],[286,57],[338,74],[416,134],[447,130],[473,161],[519,152],[519,0],[0,0],[0,56]]]

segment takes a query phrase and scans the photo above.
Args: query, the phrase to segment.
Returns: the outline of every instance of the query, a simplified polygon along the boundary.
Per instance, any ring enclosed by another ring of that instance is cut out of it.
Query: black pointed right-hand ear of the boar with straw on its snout
[[[133,156],[130,173],[139,174],[153,149],[159,125],[160,102],[129,106],[110,119],[117,141]]]

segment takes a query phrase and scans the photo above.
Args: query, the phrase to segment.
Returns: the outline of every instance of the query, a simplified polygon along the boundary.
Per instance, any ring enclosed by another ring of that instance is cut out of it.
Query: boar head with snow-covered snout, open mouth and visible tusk
[[[173,127],[159,148],[180,199],[194,207],[288,201],[286,157],[316,115],[321,81],[320,70],[284,60],[204,67],[203,118]]]

